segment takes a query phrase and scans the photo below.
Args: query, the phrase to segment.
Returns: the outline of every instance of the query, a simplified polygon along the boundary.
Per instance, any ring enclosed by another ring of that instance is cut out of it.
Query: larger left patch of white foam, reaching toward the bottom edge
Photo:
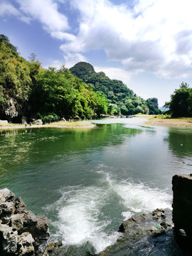
[[[107,191],[96,187],[63,192],[57,202],[58,221],[55,222],[63,245],[82,245],[89,241],[98,253],[117,240],[119,233],[108,235],[103,231],[110,224],[110,220],[100,218],[106,198]]]

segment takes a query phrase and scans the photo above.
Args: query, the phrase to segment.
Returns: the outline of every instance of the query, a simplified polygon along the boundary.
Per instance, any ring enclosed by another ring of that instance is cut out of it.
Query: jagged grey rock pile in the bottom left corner
[[[0,190],[0,255],[48,256],[55,250],[50,237],[48,219],[26,210],[21,197],[15,198],[8,188]],[[59,245],[60,246],[60,245]]]

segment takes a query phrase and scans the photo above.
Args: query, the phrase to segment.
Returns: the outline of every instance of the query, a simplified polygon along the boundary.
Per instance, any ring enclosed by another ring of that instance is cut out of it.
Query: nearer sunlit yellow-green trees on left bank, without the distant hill
[[[90,119],[112,114],[108,100],[64,66],[41,68],[36,55],[22,58],[9,38],[0,35],[0,119],[21,122],[21,117],[44,122]]]

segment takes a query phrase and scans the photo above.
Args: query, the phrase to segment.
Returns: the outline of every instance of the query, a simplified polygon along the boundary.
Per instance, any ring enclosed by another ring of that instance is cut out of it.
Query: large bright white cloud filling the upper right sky
[[[134,9],[109,0],[73,0],[80,11],[79,33],[60,48],[83,53],[104,49],[132,74],[164,78],[191,75],[191,0],[139,0]]]

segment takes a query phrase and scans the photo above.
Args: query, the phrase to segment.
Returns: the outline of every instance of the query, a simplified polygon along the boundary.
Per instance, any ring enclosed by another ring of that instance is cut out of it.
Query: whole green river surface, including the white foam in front
[[[103,119],[94,129],[0,130],[0,188],[50,220],[51,239],[95,252],[131,215],[171,208],[171,178],[192,171],[192,130]]]

